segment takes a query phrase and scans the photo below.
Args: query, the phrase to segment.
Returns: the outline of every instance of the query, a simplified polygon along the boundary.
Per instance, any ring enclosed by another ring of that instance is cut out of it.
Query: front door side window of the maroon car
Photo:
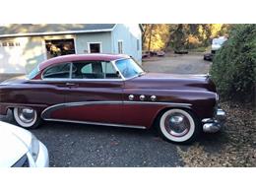
[[[119,78],[110,62],[87,61],[73,63],[72,79],[116,79]]]

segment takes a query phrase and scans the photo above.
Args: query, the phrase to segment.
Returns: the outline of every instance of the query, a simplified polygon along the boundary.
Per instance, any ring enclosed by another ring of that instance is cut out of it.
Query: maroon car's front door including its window
[[[123,81],[111,62],[73,62],[68,84],[65,107],[70,121],[121,123]]]

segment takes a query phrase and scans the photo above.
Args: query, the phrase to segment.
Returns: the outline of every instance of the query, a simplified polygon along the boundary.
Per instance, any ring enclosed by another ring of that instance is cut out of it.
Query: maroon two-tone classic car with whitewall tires
[[[175,143],[220,130],[218,99],[208,76],[146,73],[127,55],[60,56],[0,84],[0,114],[11,109],[24,128],[41,120],[157,128]]]

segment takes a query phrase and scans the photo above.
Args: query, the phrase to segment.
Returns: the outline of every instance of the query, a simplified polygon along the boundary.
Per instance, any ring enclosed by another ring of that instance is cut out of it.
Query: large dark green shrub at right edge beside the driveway
[[[233,25],[210,73],[224,98],[255,103],[256,25]]]

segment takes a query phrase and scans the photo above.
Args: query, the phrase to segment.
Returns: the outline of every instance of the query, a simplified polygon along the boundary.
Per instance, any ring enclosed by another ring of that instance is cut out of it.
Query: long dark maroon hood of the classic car
[[[146,73],[140,77],[131,79],[128,82],[133,88],[166,89],[166,90],[204,90],[216,92],[216,86],[209,75],[183,75]]]

